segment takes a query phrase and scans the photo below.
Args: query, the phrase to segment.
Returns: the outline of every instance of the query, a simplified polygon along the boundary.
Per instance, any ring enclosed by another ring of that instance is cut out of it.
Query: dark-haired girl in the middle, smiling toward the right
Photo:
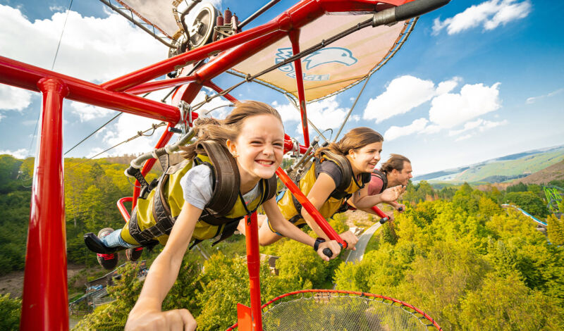
[[[321,216],[330,218],[347,199],[362,209],[398,199],[403,192],[401,186],[391,187],[374,196],[369,196],[365,187],[370,181],[370,173],[380,161],[383,140],[378,132],[369,127],[357,127],[339,142],[317,150],[311,168],[300,178],[298,187]],[[329,239],[290,190],[278,198],[278,208],[287,220],[298,227],[309,225],[319,241]],[[268,216],[260,217],[259,224],[261,245],[272,244],[283,237],[283,233],[275,230]],[[241,223],[238,229],[244,230]],[[341,238],[348,243],[349,249],[355,249],[358,239],[352,232],[343,232]]]

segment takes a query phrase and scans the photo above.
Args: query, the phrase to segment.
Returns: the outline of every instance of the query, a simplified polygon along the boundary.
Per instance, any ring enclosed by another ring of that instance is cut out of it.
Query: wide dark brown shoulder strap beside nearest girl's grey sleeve
[[[206,208],[223,215],[231,211],[239,196],[240,176],[235,158],[219,142],[207,140],[198,147],[206,151],[214,165],[214,192]]]

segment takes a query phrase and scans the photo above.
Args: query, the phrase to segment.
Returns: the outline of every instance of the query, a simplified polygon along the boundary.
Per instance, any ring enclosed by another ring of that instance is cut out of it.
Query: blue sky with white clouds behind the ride
[[[240,20],[266,1],[214,1]],[[0,55],[51,68],[69,1],[0,0]],[[292,6],[281,1],[252,25]],[[345,126],[369,126],[384,135],[383,157],[403,154],[423,174],[529,149],[564,144],[564,43],[559,31],[562,1],[453,0],[422,16],[396,56],[376,72]],[[104,82],[166,57],[166,47],[104,8],[75,0],[54,70]],[[222,87],[232,77],[214,80]],[[310,104],[322,129],[338,127],[353,104],[357,85]],[[288,135],[300,136],[288,100],[259,85],[243,85],[240,99],[274,104]],[[162,94],[154,95],[160,99]],[[203,97],[203,92],[200,97]],[[217,101],[217,106],[226,104]],[[35,155],[32,139],[41,98],[0,85],[0,154]],[[221,116],[225,109],[216,115]],[[115,115],[114,111],[66,101],[64,151]],[[92,156],[150,127],[152,120],[121,115],[67,156]],[[111,151],[150,149],[159,132]]]

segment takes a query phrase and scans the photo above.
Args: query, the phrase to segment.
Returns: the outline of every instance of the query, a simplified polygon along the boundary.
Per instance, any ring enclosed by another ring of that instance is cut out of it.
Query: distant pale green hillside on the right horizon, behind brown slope
[[[419,175],[414,182],[506,182],[537,173],[564,160],[564,146],[524,151],[459,168]],[[558,172],[558,170],[554,170]]]

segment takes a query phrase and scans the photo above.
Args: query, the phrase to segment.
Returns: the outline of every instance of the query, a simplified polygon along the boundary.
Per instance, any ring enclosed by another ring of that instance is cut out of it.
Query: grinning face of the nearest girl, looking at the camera
[[[268,179],[282,163],[284,128],[274,115],[245,118],[235,142],[227,146],[235,154],[242,182]]]

